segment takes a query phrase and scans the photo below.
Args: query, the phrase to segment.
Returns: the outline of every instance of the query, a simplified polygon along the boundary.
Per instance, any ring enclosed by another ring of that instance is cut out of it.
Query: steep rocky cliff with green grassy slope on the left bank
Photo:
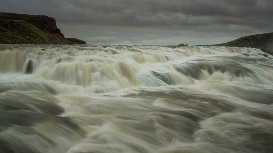
[[[54,18],[0,12],[0,44],[86,44],[65,38]]]

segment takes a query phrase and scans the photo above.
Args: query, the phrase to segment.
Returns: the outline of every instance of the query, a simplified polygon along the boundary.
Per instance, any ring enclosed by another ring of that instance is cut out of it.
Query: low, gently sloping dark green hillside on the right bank
[[[273,54],[273,33],[262,33],[258,35],[245,36],[233,41],[222,44],[214,44],[211,46],[260,48],[263,52]]]

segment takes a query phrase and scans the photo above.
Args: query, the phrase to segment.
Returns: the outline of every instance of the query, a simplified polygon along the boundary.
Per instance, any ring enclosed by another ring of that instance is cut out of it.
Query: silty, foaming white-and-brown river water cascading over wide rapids
[[[253,48],[0,45],[0,152],[273,152]]]

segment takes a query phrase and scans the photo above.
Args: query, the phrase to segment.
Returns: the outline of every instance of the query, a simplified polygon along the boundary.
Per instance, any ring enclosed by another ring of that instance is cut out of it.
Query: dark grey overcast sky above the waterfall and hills
[[[217,44],[273,32],[273,0],[1,0],[88,44]]]

